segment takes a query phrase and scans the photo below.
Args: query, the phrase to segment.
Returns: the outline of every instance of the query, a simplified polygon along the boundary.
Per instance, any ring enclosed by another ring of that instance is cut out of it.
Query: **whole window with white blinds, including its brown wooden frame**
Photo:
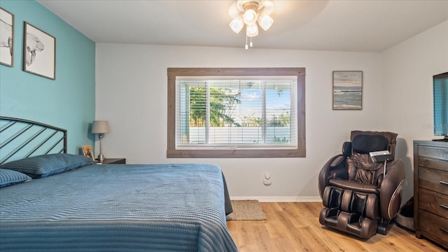
[[[169,68],[167,158],[305,156],[304,68]]]

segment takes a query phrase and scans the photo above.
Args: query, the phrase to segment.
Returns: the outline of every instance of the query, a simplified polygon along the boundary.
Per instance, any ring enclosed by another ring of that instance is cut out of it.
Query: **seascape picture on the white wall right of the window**
[[[333,110],[363,109],[363,71],[333,71]]]

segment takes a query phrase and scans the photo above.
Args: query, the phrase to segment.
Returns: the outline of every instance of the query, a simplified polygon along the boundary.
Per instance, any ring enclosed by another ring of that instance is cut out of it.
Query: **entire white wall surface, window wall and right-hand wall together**
[[[167,159],[167,67],[305,67],[307,158]],[[412,141],[433,138],[426,127],[433,123],[432,76],[448,71],[448,22],[382,53],[97,43],[96,68],[97,120],[111,127],[106,157],[131,164],[212,162],[222,167],[232,198],[319,200],[318,172],[349,132],[388,130],[399,134],[407,200]],[[363,110],[332,110],[334,70],[363,71]],[[265,172],[271,186],[262,184]]]

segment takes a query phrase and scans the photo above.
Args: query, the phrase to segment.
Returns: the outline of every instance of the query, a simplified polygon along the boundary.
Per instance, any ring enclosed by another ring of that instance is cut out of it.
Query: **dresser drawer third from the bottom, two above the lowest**
[[[448,172],[419,167],[419,187],[447,194]]]

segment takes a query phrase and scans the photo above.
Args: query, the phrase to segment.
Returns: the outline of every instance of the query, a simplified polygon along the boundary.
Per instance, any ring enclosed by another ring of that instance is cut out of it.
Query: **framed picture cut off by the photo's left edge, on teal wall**
[[[14,15],[0,8],[0,64],[14,65]]]

